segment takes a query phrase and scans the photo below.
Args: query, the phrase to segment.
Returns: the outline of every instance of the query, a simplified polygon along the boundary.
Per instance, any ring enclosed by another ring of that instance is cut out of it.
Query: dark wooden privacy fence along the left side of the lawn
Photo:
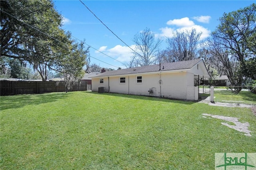
[[[0,95],[40,94],[66,91],[64,81],[0,81]],[[86,91],[87,83],[75,83],[68,91]]]

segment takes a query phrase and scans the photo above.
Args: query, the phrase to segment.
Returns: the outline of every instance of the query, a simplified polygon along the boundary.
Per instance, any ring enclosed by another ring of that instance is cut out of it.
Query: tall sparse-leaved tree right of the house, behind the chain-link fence
[[[256,4],[224,13],[211,36],[205,49],[208,59],[219,72],[225,73],[235,86],[242,85],[243,77],[253,79],[256,67]],[[235,90],[239,92],[241,88]]]

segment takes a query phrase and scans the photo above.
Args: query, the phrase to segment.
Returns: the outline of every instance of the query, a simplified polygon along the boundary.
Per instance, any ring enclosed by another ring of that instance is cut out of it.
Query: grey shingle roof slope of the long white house
[[[194,60],[178,61],[178,62],[172,62],[172,63],[161,63],[161,71],[190,69],[194,65],[196,65],[200,60],[201,59],[194,59]],[[163,69],[163,67],[164,67],[164,69]],[[128,68],[128,69],[106,71],[106,72],[100,73],[94,77],[104,77],[104,76],[111,76],[111,75],[126,75],[126,74],[136,74],[136,73],[148,73],[148,72],[159,71],[159,69],[160,69],[159,64],[146,65],[146,66],[142,66],[142,67],[133,67],[133,68]]]

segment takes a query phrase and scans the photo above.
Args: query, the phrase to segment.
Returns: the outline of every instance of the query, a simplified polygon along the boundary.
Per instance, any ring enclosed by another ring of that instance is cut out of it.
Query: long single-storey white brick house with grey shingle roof
[[[198,100],[194,79],[210,75],[202,59],[106,71],[92,78],[92,91]]]

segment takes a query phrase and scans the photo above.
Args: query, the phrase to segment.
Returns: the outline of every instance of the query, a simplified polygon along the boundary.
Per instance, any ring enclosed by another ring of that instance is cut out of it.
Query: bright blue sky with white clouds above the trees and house
[[[82,2],[127,45],[134,48],[134,35],[146,28],[162,38],[162,48],[166,47],[166,37],[176,30],[195,28],[203,32],[201,39],[207,38],[218,26],[218,19],[224,12],[236,11],[256,1],[246,0],[129,0],[129,1],[88,1]],[[79,0],[56,0],[55,8],[63,16],[63,29],[72,36],[110,57],[124,63],[132,56],[130,48],[112,34]],[[90,48],[90,55],[106,63],[91,58],[91,63],[101,67],[126,68],[122,63]],[[116,66],[116,67],[114,67]]]

